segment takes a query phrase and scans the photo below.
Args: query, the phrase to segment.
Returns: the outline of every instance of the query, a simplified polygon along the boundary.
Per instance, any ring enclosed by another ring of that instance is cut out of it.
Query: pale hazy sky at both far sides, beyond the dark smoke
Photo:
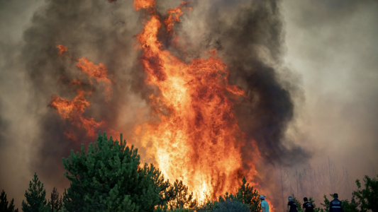
[[[19,56],[23,32],[47,2],[0,0],[0,189],[18,207],[40,149],[28,143],[38,139],[40,114],[30,112],[33,90]],[[281,9],[291,72],[280,74],[301,90],[287,137],[312,153],[313,165],[329,156],[354,178],[372,175],[378,170],[378,2],[284,0]]]

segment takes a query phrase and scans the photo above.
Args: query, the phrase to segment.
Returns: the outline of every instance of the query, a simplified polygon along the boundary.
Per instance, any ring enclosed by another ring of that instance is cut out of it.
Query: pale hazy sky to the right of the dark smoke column
[[[378,2],[283,1],[287,65],[300,73],[307,148],[355,177],[378,162]],[[304,142],[305,143],[305,142]]]

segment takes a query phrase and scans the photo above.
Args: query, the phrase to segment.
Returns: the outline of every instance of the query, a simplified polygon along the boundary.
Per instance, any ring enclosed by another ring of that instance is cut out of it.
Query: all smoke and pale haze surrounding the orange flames
[[[157,1],[157,11],[180,2]],[[375,1],[194,1],[175,25],[188,54],[165,43],[184,61],[218,49],[230,83],[248,94],[235,111],[247,139],[257,141],[263,163],[256,181],[275,206],[279,165],[291,174],[329,156],[352,179],[378,168],[377,9]],[[62,194],[68,182],[61,158],[94,141],[80,131],[80,142],[67,139],[70,123],[47,107],[52,94],[76,95],[68,84],[77,68],[57,57],[57,45],[105,64],[113,76],[106,104],[103,88],[84,82],[93,93],[88,117],[126,138],[143,121],[135,111],[148,107],[153,92],[133,47],[143,16],[132,1],[0,0],[0,189],[18,208],[34,172],[48,194],[52,187]]]

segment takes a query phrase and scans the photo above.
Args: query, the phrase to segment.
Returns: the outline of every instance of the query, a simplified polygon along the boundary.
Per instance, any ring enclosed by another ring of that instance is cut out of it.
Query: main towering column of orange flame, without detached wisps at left
[[[153,155],[170,180],[182,179],[199,201],[235,191],[243,175],[254,175],[255,167],[243,168],[244,138],[234,116],[231,98],[245,95],[228,83],[229,71],[211,50],[207,59],[185,64],[162,49],[157,39],[162,27],[155,13],[155,1],[134,1],[134,8],[148,9],[150,18],[136,35],[143,49],[140,58],[148,74],[145,83],[157,86],[159,95],[150,96],[151,117],[157,120],[137,126],[143,146],[152,143]],[[167,13],[167,31],[182,15],[181,4]],[[142,129],[140,129],[142,128]]]

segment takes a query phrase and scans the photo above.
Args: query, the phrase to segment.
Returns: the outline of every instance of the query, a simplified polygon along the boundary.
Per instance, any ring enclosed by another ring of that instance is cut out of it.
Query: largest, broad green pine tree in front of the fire
[[[121,142],[113,142],[99,133],[87,153],[82,145],[81,153],[72,151],[63,164],[71,182],[63,202],[70,212],[154,211],[174,198],[171,184],[152,164],[140,166],[138,149],[126,146],[122,134]]]

